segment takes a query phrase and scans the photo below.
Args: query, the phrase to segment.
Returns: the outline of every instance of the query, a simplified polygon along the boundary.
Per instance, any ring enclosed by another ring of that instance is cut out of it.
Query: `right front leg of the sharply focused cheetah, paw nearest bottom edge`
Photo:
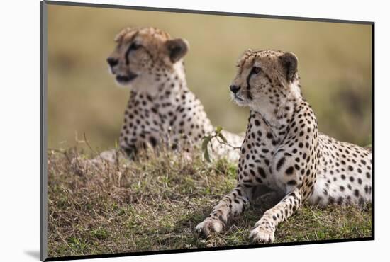
[[[250,232],[250,239],[259,243],[272,243],[275,239],[275,230],[280,222],[294,214],[301,206],[302,197],[298,188],[286,195],[277,205],[264,212]]]

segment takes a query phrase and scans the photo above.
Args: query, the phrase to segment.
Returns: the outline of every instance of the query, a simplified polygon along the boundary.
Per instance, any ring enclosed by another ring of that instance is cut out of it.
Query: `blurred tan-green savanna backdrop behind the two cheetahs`
[[[230,101],[228,86],[245,49],[269,48],[298,56],[303,95],[322,132],[371,143],[371,25],[49,5],[48,147],[72,147],[76,133],[94,148],[114,147],[129,91],[116,86],[106,57],[127,26],[189,41],[189,88],[214,125],[245,131],[248,110]]]

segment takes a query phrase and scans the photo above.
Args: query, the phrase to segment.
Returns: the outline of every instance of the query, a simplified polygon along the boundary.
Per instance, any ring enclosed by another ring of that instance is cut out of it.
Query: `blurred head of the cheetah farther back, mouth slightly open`
[[[115,41],[107,58],[110,72],[119,85],[133,89],[157,89],[162,78],[182,66],[182,57],[189,50],[186,40],[172,39],[157,28],[125,28]]]

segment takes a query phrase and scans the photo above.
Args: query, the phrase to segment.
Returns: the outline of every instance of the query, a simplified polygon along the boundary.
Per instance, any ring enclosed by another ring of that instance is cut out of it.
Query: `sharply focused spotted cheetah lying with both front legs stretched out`
[[[238,62],[230,91],[250,107],[238,162],[238,184],[196,227],[221,232],[231,217],[259,195],[282,199],[250,232],[260,243],[274,241],[277,225],[305,202],[362,205],[371,201],[371,152],[317,130],[316,116],[302,97],[297,58],[291,52],[247,50]]]

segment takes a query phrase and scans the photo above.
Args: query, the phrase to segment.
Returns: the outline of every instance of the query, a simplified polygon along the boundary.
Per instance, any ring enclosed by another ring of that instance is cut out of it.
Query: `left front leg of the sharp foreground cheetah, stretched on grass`
[[[196,232],[204,237],[211,232],[221,232],[230,218],[240,215],[245,210],[244,205],[250,199],[249,191],[238,184],[213,208],[211,214],[195,227]]]

